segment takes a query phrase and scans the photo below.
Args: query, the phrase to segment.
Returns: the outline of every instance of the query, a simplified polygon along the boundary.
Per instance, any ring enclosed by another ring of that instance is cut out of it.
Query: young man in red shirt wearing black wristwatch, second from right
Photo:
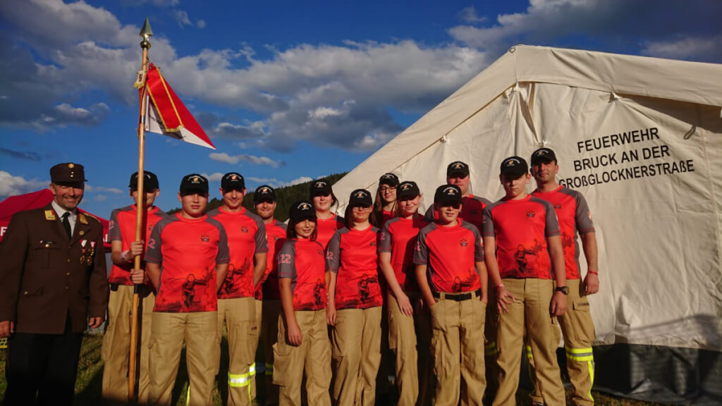
[[[569,293],[562,240],[552,204],[526,192],[528,170],[521,157],[503,160],[499,179],[506,196],[484,210],[482,223],[499,311],[499,389],[493,405],[516,403],[525,326],[544,403],[565,405],[554,341],[554,324],[564,314]]]

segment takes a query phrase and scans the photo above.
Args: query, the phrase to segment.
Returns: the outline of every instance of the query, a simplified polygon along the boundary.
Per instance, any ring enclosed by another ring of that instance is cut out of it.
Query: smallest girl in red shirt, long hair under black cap
[[[279,405],[301,405],[304,372],[308,404],[331,405],[325,272],[323,247],[316,241],[316,211],[310,202],[295,202],[287,241],[278,254],[283,311],[273,346],[273,381],[280,386]]]

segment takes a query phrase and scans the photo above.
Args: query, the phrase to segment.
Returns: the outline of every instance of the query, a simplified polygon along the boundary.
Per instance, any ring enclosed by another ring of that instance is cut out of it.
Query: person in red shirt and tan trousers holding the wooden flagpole
[[[108,301],[108,324],[103,336],[103,350],[100,355],[105,361],[103,366],[103,399],[125,405],[128,401],[128,364],[130,350],[130,313],[133,303],[134,285],[138,287],[141,299],[138,308],[141,344],[139,348],[138,402],[148,402],[148,345],[150,343],[151,319],[155,305],[155,292],[145,276],[144,262],[139,272],[134,272],[133,262],[136,256],[142,256],[145,242],[156,223],[167,217],[153,205],[160,194],[158,178],[155,173],[144,172],[145,203],[143,206],[144,238],[135,241],[136,205],[113,210],[108,225],[110,240],[110,300]],[[138,196],[138,173],[131,175],[130,196],[136,201]]]

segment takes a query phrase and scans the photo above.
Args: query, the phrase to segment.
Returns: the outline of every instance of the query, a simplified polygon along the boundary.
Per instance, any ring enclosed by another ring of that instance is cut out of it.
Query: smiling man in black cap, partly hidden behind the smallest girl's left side
[[[261,185],[253,193],[253,208],[264,220],[269,251],[266,272],[256,287],[256,317],[261,319],[261,335],[264,337],[266,361],[266,405],[278,405],[278,386],[273,384],[273,345],[278,339],[278,316],[281,314],[281,296],[278,285],[278,262],[276,254],[286,241],[286,225],[274,217],[276,214],[276,191]],[[325,289],[325,287],[324,287]],[[258,309],[261,309],[259,311]]]

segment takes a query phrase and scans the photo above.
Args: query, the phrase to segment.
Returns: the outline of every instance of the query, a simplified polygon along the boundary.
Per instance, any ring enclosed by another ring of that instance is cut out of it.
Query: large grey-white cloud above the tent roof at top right
[[[645,0],[529,0],[523,12],[499,14],[495,25],[458,25],[448,33],[460,43],[491,53],[517,43],[558,46],[567,38],[588,38],[596,47],[633,52],[640,44],[668,41],[675,35],[718,35],[720,15],[719,1],[658,0],[651,6]]]

